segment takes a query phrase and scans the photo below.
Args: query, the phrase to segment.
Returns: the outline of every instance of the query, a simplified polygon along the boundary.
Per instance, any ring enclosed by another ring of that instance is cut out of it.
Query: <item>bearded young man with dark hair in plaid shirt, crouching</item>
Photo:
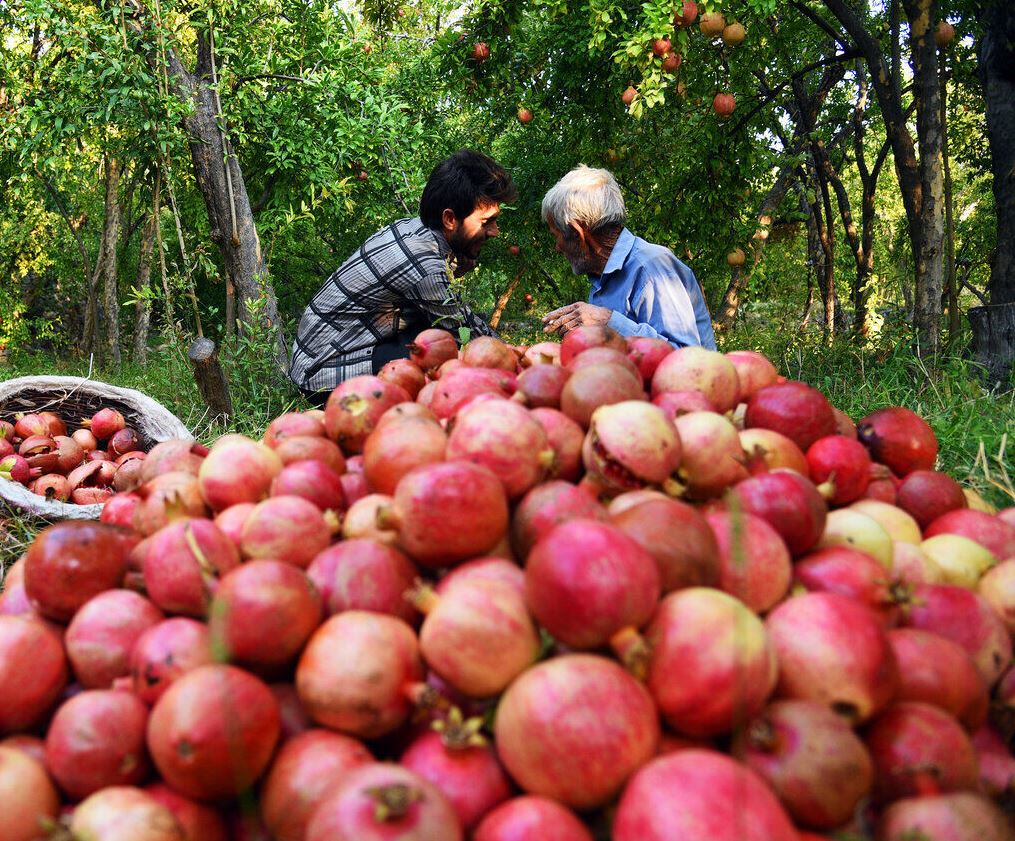
[[[473,335],[494,331],[451,288],[499,233],[500,205],[517,197],[492,158],[462,149],[441,161],[419,200],[419,216],[370,236],[311,299],[292,345],[289,378],[323,406],[341,381],[377,373],[429,327]]]

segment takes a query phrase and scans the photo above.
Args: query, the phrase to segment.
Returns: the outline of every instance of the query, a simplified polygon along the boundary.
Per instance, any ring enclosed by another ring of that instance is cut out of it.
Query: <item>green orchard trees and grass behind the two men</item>
[[[1015,7],[731,0],[675,25],[685,11],[3,4],[3,378],[90,373],[209,438],[186,358],[204,335],[228,427],[260,435],[304,408],[279,361],[311,295],[471,146],[520,191],[461,281],[510,340],[586,297],[539,204],[577,163],[606,166],[629,227],[696,273],[721,349],[766,353],[855,417],[915,409],[944,470],[1012,504],[1011,360],[967,316],[1015,324]]]

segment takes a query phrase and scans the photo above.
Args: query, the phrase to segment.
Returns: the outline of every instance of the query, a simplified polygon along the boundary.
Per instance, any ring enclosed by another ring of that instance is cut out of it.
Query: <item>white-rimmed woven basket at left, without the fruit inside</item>
[[[13,422],[18,413],[56,412],[73,428],[104,407],[118,410],[137,430],[141,449],[159,441],[193,438],[184,423],[160,403],[133,389],[121,389],[80,376],[21,376],[0,382],[0,420]],[[52,502],[17,482],[0,479],[0,501],[24,516],[57,519],[96,519],[101,505]]]

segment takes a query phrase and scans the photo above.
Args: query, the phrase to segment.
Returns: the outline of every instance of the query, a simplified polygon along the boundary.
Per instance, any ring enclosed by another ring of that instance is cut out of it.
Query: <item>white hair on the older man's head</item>
[[[570,237],[571,222],[579,222],[595,232],[607,227],[622,227],[626,219],[624,197],[613,173],[580,163],[543,196],[543,221],[552,222],[564,236]]]

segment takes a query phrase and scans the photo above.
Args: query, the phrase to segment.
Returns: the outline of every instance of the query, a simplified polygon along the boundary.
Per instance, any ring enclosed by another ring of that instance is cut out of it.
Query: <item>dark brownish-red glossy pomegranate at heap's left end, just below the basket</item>
[[[93,595],[120,586],[136,543],[133,535],[101,522],[50,525],[25,554],[25,591],[43,616],[67,622]]]

